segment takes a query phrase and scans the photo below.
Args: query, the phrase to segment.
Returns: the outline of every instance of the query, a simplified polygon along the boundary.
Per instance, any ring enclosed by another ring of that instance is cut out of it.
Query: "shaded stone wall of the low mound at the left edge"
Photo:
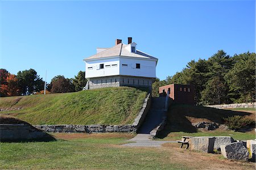
[[[1,142],[18,141],[49,141],[55,140],[46,132],[40,131],[29,124],[0,124]]]

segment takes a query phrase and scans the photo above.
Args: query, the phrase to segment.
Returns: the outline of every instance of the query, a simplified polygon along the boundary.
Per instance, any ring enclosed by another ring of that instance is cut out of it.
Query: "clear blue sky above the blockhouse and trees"
[[[1,1],[1,68],[33,68],[47,82],[84,71],[115,39],[159,59],[161,80],[190,60],[255,52],[255,1]]]

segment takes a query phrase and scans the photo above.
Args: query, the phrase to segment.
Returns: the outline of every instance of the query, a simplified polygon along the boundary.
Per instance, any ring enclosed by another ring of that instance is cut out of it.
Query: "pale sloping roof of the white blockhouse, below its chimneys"
[[[104,51],[96,53],[96,55],[92,55],[84,60],[102,59],[105,57],[113,57],[113,56],[135,57],[135,58],[141,58],[141,59],[152,59],[156,61],[158,60],[155,57],[148,55],[147,53],[139,51],[138,49],[136,50],[136,52],[130,52],[125,47],[127,47],[126,44],[119,43],[114,47],[106,48]]]

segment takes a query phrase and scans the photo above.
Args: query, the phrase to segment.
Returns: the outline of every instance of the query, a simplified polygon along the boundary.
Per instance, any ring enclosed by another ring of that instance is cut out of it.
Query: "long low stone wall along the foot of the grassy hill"
[[[133,125],[33,125],[46,132],[136,132]]]

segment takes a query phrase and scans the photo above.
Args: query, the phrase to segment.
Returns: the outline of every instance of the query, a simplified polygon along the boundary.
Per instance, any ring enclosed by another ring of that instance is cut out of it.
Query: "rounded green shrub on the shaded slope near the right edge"
[[[254,120],[240,115],[235,115],[233,117],[224,118],[224,122],[230,129],[238,130],[239,128],[253,124]]]

